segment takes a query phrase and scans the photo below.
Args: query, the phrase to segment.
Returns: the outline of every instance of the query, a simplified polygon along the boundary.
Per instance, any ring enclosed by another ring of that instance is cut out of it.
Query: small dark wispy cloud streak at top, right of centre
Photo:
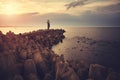
[[[88,0],[76,0],[76,1],[73,1],[69,4],[66,4],[65,6],[67,6],[67,10],[72,8],[72,7],[76,7],[76,6],[82,6],[84,5]]]

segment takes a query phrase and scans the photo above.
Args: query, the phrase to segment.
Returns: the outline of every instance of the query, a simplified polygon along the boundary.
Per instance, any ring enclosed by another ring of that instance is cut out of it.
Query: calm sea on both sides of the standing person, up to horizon
[[[45,27],[1,27],[6,34],[31,32]],[[100,64],[120,72],[120,27],[52,27],[64,29],[62,43],[52,50],[66,60],[81,60],[87,64]]]

